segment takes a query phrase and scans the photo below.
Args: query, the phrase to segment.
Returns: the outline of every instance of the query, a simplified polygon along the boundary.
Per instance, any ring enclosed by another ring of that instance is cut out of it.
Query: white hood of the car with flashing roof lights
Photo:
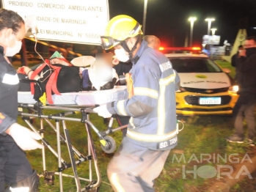
[[[226,73],[178,73],[180,86],[199,89],[218,89],[231,86]]]

